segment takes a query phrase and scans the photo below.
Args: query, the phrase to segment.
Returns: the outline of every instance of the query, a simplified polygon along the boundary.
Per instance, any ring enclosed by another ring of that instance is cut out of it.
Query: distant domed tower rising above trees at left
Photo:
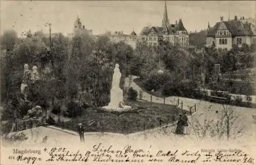
[[[68,33],[67,36],[72,39],[74,36],[78,36],[81,34],[92,34],[92,30],[86,29],[84,25],[82,25],[81,19],[77,16],[76,21],[74,23],[74,31],[73,33]]]

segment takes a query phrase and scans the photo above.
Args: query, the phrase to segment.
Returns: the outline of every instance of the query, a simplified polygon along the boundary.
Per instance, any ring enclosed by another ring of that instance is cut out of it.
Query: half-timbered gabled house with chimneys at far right
[[[208,24],[206,46],[215,45],[216,48],[229,50],[232,45],[252,44],[256,41],[256,29],[253,22],[251,18],[238,19],[234,16],[233,20],[225,21],[221,17],[214,27],[210,28]]]

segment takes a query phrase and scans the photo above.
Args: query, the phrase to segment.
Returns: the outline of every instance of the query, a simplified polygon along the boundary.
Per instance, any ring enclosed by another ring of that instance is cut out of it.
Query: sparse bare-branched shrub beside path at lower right
[[[191,116],[191,127],[199,138],[236,138],[242,134],[244,126],[239,122],[236,106],[222,104],[221,110],[205,108],[197,117]]]

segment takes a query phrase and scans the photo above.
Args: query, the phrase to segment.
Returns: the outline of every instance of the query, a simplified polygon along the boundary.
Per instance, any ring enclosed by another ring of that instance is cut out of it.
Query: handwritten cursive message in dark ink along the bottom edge
[[[34,164],[37,161],[46,162],[89,162],[96,163],[143,163],[165,162],[179,164],[195,164],[201,162],[222,162],[254,164],[254,158],[240,149],[201,149],[201,150],[158,150],[151,151],[149,148],[138,148],[125,145],[116,149],[113,145],[106,146],[102,143],[95,144],[88,150],[69,150],[68,148],[45,148],[44,150],[13,149],[9,160],[23,161]],[[42,160],[38,155],[47,156]]]

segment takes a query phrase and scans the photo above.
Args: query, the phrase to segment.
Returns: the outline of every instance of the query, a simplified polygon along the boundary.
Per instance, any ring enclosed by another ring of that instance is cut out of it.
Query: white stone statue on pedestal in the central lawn
[[[119,87],[121,73],[119,64],[116,64],[112,80],[112,88],[110,91],[110,103],[103,108],[106,110],[123,111],[131,109],[131,106],[126,106],[123,103],[123,90]]]

